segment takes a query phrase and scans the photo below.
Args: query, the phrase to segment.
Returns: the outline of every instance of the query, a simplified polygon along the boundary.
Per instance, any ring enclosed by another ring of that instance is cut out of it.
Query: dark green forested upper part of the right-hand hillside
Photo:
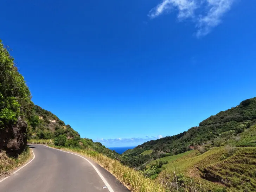
[[[159,158],[168,153],[176,155],[184,153],[190,148],[197,148],[203,143],[211,141],[214,145],[221,142],[226,132],[242,133],[249,128],[256,119],[256,97],[241,102],[236,107],[221,111],[178,135],[164,137],[155,141],[148,141],[124,152],[127,156],[136,156],[147,150],[153,150],[151,156]]]

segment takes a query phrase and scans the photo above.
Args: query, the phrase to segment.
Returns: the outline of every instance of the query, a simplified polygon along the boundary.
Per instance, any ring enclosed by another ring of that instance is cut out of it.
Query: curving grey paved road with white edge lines
[[[35,159],[0,183],[0,192],[109,192],[95,169],[83,158],[43,145],[32,145]],[[100,166],[113,191],[126,187]]]

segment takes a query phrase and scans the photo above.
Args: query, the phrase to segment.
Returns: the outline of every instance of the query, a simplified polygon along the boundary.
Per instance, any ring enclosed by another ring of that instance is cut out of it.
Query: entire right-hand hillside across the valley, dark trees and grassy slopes
[[[130,149],[122,162],[170,191],[255,191],[256,97],[187,132]]]

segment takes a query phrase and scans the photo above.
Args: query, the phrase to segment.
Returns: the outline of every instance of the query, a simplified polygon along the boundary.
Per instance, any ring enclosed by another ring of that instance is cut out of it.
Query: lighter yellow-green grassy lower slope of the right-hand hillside
[[[253,134],[252,134],[253,133]],[[183,175],[181,183],[192,178],[201,191],[255,191],[256,189],[256,125],[238,137],[233,136],[220,147],[200,154],[198,150],[163,165],[158,180],[172,187],[174,172]],[[241,143],[247,141],[246,147]],[[181,155],[181,154],[180,154]]]

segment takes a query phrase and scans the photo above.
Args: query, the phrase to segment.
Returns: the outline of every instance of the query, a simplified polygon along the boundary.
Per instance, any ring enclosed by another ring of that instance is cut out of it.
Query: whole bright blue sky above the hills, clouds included
[[[256,2],[2,0],[33,102],[82,137],[135,146],[256,96]]]

